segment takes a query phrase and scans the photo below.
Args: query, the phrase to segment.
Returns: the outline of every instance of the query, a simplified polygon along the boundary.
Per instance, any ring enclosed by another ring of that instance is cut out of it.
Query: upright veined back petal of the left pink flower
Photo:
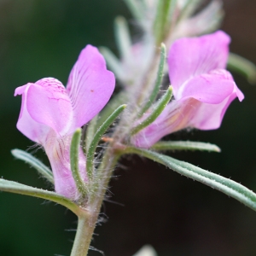
[[[90,121],[107,104],[114,89],[113,73],[96,47],[87,45],[79,55],[68,82],[75,127]]]

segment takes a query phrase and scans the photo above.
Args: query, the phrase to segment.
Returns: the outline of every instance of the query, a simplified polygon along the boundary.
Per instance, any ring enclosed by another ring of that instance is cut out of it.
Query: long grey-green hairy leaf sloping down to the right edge
[[[160,164],[169,167],[174,172],[190,177],[200,183],[204,183],[212,189],[217,189],[256,211],[256,194],[230,178],[222,177],[218,174],[203,170],[200,167],[193,166],[187,162],[176,160],[170,156],[146,149],[129,147],[125,149],[125,153],[140,154],[148,159],[159,162]]]

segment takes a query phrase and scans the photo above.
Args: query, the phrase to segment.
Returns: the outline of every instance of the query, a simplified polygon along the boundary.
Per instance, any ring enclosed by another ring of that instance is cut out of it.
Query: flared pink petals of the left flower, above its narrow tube
[[[59,80],[47,78],[15,90],[15,96],[22,95],[22,101],[26,102],[17,127],[37,143],[42,141],[39,137],[44,125],[61,136],[70,134],[102,110],[113,93],[114,83],[113,73],[107,70],[102,55],[88,45],[73,66],[67,89]],[[22,117],[23,111],[28,114],[26,119]],[[41,127],[29,125],[27,130],[26,122],[33,121]]]

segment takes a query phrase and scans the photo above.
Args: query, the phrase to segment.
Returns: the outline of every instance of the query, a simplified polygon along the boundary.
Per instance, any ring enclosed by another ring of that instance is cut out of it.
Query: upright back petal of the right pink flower
[[[168,55],[169,76],[176,96],[187,80],[226,66],[230,37],[218,31],[199,38],[181,38],[172,44]]]

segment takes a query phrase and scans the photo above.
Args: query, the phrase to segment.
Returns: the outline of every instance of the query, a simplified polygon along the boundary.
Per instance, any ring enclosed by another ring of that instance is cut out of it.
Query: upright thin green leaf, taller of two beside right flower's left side
[[[142,110],[138,114],[139,117],[143,116],[143,113],[145,113],[148,110],[148,108],[150,108],[152,106],[152,104],[154,103],[154,100],[156,99],[156,96],[159,93],[160,86],[161,86],[163,76],[164,76],[165,63],[166,63],[166,45],[161,44],[160,62],[159,62],[156,81],[154,84],[154,90],[152,91],[152,93],[148,99],[148,102],[146,102],[145,106],[142,108]]]

